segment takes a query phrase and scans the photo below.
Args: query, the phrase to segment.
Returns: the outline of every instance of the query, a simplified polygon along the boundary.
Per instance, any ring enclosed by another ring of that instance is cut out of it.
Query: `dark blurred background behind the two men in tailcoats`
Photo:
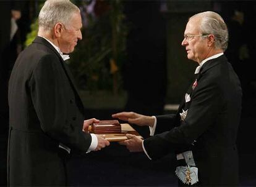
[[[28,34],[33,35],[32,31],[35,31],[31,25],[36,22],[43,2],[0,1],[2,186],[6,185],[7,81],[15,58],[25,48],[25,42],[33,38]],[[205,10],[218,12],[224,18],[229,29],[225,54],[243,89],[242,117],[237,135],[240,186],[256,186],[256,1],[73,2],[81,9],[85,28],[84,42],[70,55],[73,59],[70,68],[80,88],[88,118],[111,119],[111,114],[118,111],[147,115],[176,113],[197,66],[187,60],[181,46],[188,18]],[[17,31],[10,39],[12,10],[17,10],[21,16],[15,21]],[[119,30],[115,32],[113,28]],[[98,56],[93,56],[97,52]],[[98,57],[104,58],[97,60]],[[134,128],[143,137],[148,137],[147,128]],[[176,186],[174,160],[174,154],[170,154],[158,161],[150,161],[143,153],[129,153],[123,146],[111,143],[100,152],[71,159],[69,183],[72,186]]]

